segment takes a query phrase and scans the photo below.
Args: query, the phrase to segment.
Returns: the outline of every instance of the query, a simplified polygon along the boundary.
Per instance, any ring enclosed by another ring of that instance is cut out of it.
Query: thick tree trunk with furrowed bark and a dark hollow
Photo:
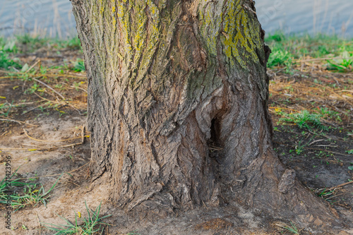
[[[273,151],[270,52],[252,0],[71,1],[92,170],[109,174],[116,205],[161,213],[236,201],[335,222]]]

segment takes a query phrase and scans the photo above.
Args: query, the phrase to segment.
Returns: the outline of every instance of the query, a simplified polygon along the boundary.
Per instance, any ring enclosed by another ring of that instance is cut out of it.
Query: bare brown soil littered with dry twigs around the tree
[[[79,52],[70,50],[61,51],[60,56],[48,57],[52,54],[49,52],[49,49],[42,49],[18,57],[23,64],[29,65],[40,59],[35,68],[40,64],[65,66],[82,57]],[[261,211],[236,202],[225,207],[205,206],[190,212],[177,212],[167,218],[158,214],[133,218],[116,209],[104,198],[106,184],[100,184],[109,181],[107,176],[91,183],[90,133],[84,130],[85,74],[73,73],[69,66],[65,69],[63,73],[60,68],[52,68],[39,75],[38,67],[35,78],[66,100],[61,100],[42,83],[37,83],[39,88],[32,88],[35,80],[25,80],[20,74],[8,78],[6,73],[0,72],[0,96],[4,97],[1,104],[13,105],[9,112],[0,109],[0,172],[3,174],[0,179],[5,176],[4,163],[8,156],[11,157],[11,170],[18,169],[15,179],[37,183],[37,186],[42,184],[48,191],[60,178],[46,206],[38,203],[12,212],[12,230],[6,229],[1,222],[0,234],[54,234],[44,226],[66,224],[61,217],[75,222],[78,212],[87,217],[85,203],[93,210],[101,203],[100,215],[112,215],[104,219],[109,224],[104,226],[104,234],[291,234],[278,225],[281,222],[290,226],[288,220],[269,218]],[[353,171],[348,169],[353,164],[353,155],[347,152],[353,149],[353,74],[328,72],[319,65],[308,63],[301,65],[294,74],[282,73],[280,68],[268,73],[272,93],[269,104],[275,126],[273,143],[278,156],[287,168],[296,171],[304,186],[321,196],[321,200],[326,200],[328,206],[332,205],[333,212],[337,211],[345,222],[346,227],[337,229],[334,234],[353,234],[353,183],[349,183],[353,180]],[[306,109],[315,112],[317,108],[325,107],[337,112],[322,119],[327,131],[315,127],[299,128],[294,123],[280,121],[282,111],[295,113]],[[68,174],[63,174],[65,172]],[[21,194],[23,188],[13,188],[13,191]],[[1,215],[6,213],[3,204],[0,210]],[[298,229],[300,234],[325,234]]]

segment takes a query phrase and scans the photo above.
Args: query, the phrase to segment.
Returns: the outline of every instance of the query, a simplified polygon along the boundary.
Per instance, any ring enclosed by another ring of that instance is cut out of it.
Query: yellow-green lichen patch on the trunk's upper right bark
[[[220,40],[223,53],[246,68],[248,61],[256,61],[256,48],[261,48],[260,25],[249,16],[244,1],[201,1],[199,16],[201,35],[211,54],[217,52],[217,40]]]

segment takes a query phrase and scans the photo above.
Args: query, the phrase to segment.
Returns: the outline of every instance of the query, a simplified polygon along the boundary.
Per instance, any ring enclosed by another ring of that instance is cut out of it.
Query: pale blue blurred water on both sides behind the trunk
[[[76,35],[69,0],[0,0],[0,35]],[[353,1],[258,0],[258,18],[268,33],[353,36]]]

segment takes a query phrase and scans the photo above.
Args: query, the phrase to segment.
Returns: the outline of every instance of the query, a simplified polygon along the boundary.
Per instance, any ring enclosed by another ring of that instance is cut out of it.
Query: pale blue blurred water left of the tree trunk
[[[76,35],[69,0],[0,0],[0,35],[64,39]]]

